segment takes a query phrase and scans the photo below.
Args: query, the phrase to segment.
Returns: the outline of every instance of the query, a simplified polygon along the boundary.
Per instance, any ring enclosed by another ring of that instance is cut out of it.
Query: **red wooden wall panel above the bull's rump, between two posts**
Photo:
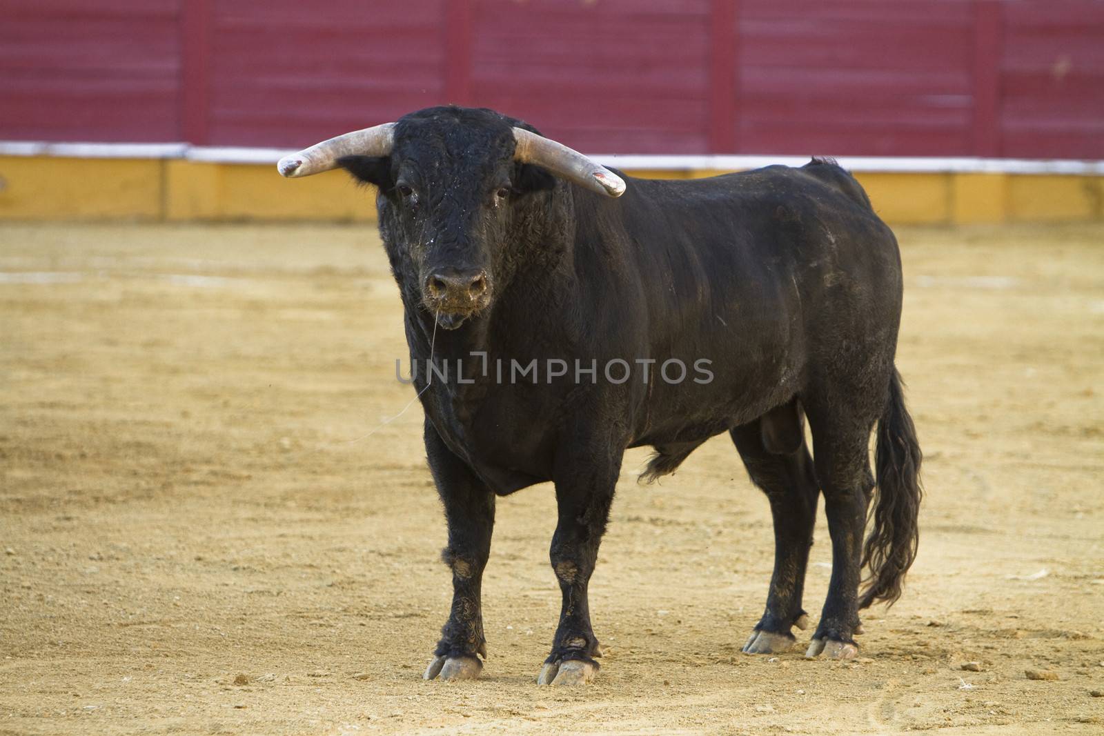
[[[741,13],[742,152],[970,152],[968,3],[744,0]]]

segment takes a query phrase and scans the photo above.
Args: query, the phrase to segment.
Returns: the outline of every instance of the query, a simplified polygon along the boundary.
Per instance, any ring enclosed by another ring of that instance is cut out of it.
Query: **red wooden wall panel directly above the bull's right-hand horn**
[[[587,151],[708,152],[715,10],[473,0],[471,104]]]

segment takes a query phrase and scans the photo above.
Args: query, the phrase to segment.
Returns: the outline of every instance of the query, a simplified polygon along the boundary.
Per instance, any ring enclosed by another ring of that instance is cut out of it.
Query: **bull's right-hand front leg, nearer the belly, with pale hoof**
[[[606,531],[622,452],[612,457],[572,457],[556,463],[555,495],[559,522],[549,557],[560,582],[563,605],[552,653],[537,678],[542,685],[578,685],[598,671],[602,655],[591,628],[587,585]]]

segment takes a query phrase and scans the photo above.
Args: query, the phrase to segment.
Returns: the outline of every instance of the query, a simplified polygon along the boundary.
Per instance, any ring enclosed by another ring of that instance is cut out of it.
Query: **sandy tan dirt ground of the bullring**
[[[716,438],[651,487],[629,452],[562,691],[548,484],[499,501],[484,679],[421,679],[445,531],[417,405],[380,427],[371,226],[0,226],[0,733],[1104,732],[1104,227],[899,234],[927,497],[861,659],[740,653],[772,532]]]

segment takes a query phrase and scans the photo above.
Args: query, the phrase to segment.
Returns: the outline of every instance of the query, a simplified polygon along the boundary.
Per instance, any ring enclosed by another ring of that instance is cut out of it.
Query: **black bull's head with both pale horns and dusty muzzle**
[[[550,174],[605,196],[625,191],[617,174],[520,125],[491,110],[429,108],[322,141],[277,168],[309,177],[341,167],[379,186],[396,276],[455,329],[490,306],[514,227],[531,195],[554,186]]]

